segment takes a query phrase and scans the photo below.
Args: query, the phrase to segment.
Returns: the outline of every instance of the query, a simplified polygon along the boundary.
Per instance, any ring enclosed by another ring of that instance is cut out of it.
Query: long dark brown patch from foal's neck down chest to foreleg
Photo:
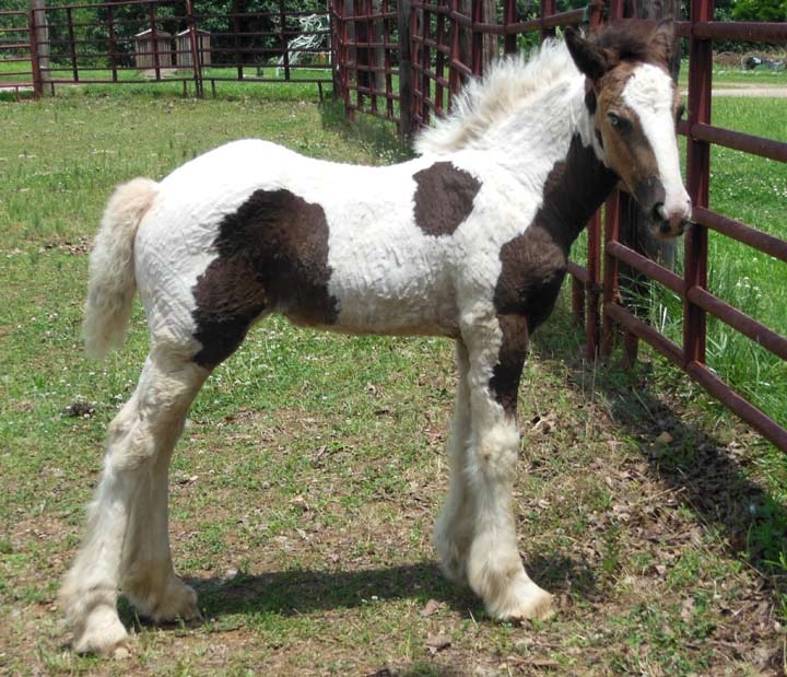
[[[571,245],[611,192],[616,176],[578,136],[565,161],[555,163],[532,223],[501,248],[494,305],[503,332],[490,389],[506,413],[516,412],[528,337],[552,313]]]

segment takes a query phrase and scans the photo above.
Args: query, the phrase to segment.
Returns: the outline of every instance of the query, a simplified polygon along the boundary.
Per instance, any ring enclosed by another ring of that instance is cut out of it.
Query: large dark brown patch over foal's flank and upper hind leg
[[[193,360],[201,366],[228,358],[266,312],[305,325],[336,322],[328,222],[319,205],[289,190],[257,190],[222,220],[213,246],[219,257],[192,290],[195,338],[202,343]]]

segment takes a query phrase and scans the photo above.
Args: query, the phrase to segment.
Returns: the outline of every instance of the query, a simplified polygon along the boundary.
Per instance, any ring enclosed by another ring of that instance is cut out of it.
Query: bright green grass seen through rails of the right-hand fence
[[[784,106],[783,98],[717,97],[712,119],[726,129],[787,141]],[[681,148],[685,148],[683,139]],[[710,209],[787,240],[787,164],[713,147],[710,176]],[[787,336],[785,264],[718,233],[710,232],[708,237],[708,289]],[[573,258],[584,262],[584,237],[577,244]],[[683,247],[679,242],[677,272],[682,271]],[[657,295],[646,300],[650,304],[650,323],[682,346],[682,301],[665,289],[656,289]],[[787,363],[712,316],[707,363],[747,399],[787,425]],[[720,405],[707,401],[710,411],[718,415]]]

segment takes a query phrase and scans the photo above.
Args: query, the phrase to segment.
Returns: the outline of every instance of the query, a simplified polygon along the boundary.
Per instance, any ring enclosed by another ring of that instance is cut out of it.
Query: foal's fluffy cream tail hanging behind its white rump
[[[109,198],[90,257],[90,281],[83,334],[87,354],[103,358],[126,340],[126,326],[137,290],[134,238],[153,205],[158,184],[134,178]]]

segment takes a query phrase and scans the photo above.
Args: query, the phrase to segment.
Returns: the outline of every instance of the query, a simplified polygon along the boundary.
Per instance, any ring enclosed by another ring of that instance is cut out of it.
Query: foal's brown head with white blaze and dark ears
[[[676,138],[682,106],[668,71],[673,42],[671,22],[622,22],[590,39],[566,31],[568,50],[587,77],[597,152],[662,237],[682,234],[691,218]]]

